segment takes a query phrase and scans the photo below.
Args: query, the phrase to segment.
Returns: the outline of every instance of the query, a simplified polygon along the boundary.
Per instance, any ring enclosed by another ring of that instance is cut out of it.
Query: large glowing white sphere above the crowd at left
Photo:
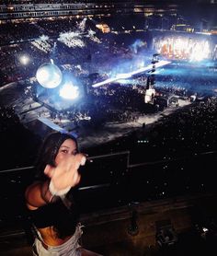
[[[51,63],[41,64],[36,72],[36,78],[40,86],[46,88],[58,87],[63,78],[63,74],[58,66]]]

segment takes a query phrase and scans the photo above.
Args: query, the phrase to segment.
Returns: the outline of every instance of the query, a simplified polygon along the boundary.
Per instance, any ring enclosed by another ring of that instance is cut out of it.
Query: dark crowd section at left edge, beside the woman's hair
[[[1,169],[32,165],[40,138],[20,122],[13,107],[1,106],[0,113]]]

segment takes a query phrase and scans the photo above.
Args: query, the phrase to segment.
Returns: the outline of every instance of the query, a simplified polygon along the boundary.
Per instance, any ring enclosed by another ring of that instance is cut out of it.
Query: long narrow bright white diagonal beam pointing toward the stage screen
[[[140,73],[143,73],[144,71],[148,71],[148,70],[152,70],[153,69],[153,65],[155,66],[155,68],[157,67],[160,67],[160,66],[164,66],[166,64],[170,64],[171,62],[168,62],[168,61],[159,61],[158,63],[155,63],[155,64],[149,64],[147,66],[144,66],[142,68],[139,68],[135,71],[132,71],[130,73],[124,73],[124,74],[118,74],[117,76],[113,77],[113,78],[109,78],[105,81],[102,81],[102,82],[99,82],[99,83],[96,83],[94,85],[92,85],[92,87],[101,87],[101,86],[104,86],[104,85],[107,85],[107,84],[110,84],[114,81],[118,81],[120,79],[127,79],[127,78],[130,78],[131,76],[133,75],[136,75],[136,74],[140,74]]]

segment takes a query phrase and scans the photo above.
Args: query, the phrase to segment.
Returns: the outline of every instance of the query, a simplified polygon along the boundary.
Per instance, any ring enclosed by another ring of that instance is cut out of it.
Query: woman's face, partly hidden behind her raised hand
[[[58,165],[61,161],[63,161],[64,157],[69,155],[76,155],[77,154],[77,147],[72,139],[67,139],[63,142],[60,146],[58,153],[55,157],[55,163]]]

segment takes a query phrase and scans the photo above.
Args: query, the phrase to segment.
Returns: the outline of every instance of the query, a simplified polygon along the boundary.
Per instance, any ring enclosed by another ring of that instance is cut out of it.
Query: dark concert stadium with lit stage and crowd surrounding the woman
[[[112,1],[115,11],[100,1],[25,2],[0,6],[4,255],[30,255],[22,192],[53,130],[74,134],[93,159],[78,188],[88,248],[216,250],[214,27],[184,23],[172,1]]]

